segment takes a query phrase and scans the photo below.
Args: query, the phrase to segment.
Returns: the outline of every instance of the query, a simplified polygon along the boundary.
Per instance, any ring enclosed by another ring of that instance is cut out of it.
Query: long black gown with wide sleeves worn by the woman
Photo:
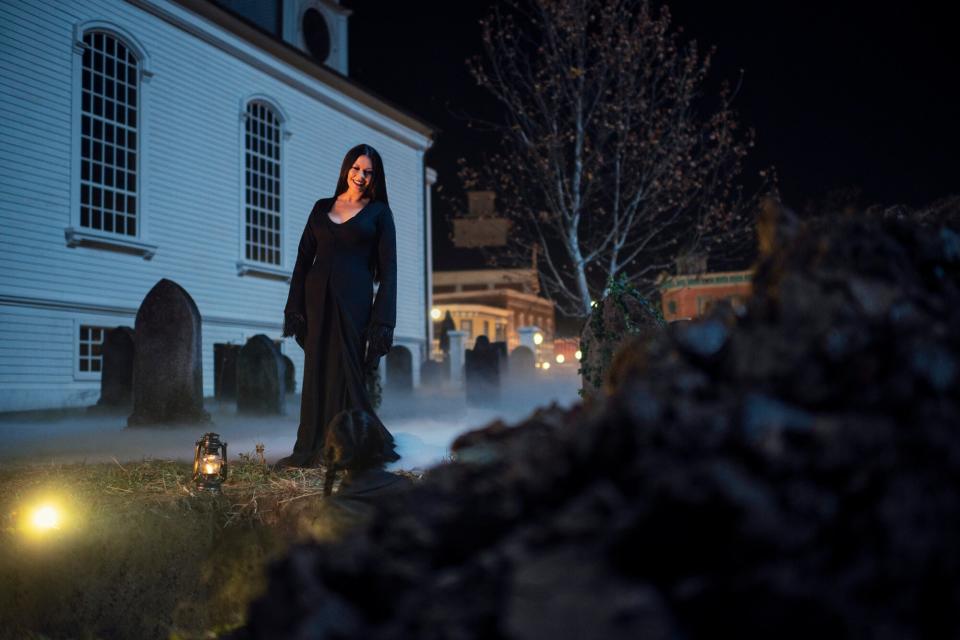
[[[393,212],[369,202],[349,220],[327,215],[334,198],[313,205],[300,238],[285,312],[307,319],[297,442],[288,463],[322,464],[330,420],[345,409],[363,409],[383,430],[387,460],[397,460],[393,436],[367,395],[362,332],[372,323],[396,325],[397,246]],[[373,300],[374,273],[380,285]]]

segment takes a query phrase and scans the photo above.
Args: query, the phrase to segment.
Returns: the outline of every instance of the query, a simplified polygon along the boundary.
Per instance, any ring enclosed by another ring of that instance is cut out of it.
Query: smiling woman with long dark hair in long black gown
[[[333,197],[313,205],[300,238],[283,330],[304,351],[300,426],[293,454],[279,467],[323,464],[327,424],[350,409],[372,416],[387,460],[400,457],[365,379],[390,350],[396,316],[396,232],[383,162],[361,144],[347,152]]]

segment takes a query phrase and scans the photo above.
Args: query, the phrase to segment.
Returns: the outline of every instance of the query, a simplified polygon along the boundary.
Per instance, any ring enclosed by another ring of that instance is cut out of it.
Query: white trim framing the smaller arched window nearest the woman
[[[247,105],[251,102],[263,102],[273,109],[280,119],[280,265],[257,262],[256,260],[247,260],[246,258],[246,189],[247,189],[247,147],[246,147],[246,123],[247,123]],[[238,276],[259,276],[262,278],[272,278],[289,282],[293,275],[293,265],[291,257],[287,251],[287,140],[293,135],[289,127],[290,118],[280,107],[279,103],[270,96],[263,93],[247,94],[240,100],[240,115],[237,119],[237,150],[239,151],[240,179],[237,190],[237,220],[239,222],[239,231],[237,233],[237,275]]]

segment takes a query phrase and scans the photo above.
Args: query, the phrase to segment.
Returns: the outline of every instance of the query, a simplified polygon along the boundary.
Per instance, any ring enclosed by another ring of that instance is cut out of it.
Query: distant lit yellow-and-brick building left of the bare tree
[[[485,335],[491,342],[505,340],[513,351],[520,344],[517,329],[527,326],[538,327],[544,344],[552,344],[554,304],[539,293],[540,281],[532,268],[434,271],[433,307],[439,315],[433,334],[439,336],[440,321],[449,311],[457,329],[467,332],[468,347]],[[434,343],[437,357],[439,343]]]

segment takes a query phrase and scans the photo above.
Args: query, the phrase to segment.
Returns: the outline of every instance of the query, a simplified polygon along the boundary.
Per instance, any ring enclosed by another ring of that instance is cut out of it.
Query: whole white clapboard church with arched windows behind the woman
[[[0,4],[0,411],[96,402],[103,329],[132,327],[161,278],[199,307],[212,395],[215,343],[279,338],[307,215],[360,142],[387,171],[395,342],[419,379],[433,129],[346,77],[349,14],[332,0]],[[302,351],[283,350],[299,389]]]

